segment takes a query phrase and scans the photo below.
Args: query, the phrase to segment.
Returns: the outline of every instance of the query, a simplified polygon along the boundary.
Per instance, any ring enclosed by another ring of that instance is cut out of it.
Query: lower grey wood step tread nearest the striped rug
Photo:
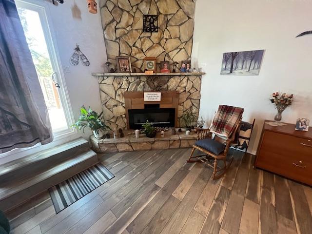
[[[75,157],[74,159],[71,158],[65,162],[62,162],[61,164],[55,166],[54,168],[51,168],[48,171],[45,171],[43,173],[40,173],[32,178],[29,178],[25,181],[21,181],[17,186],[14,186],[14,188],[8,188],[3,190],[3,188],[0,188],[0,201],[8,198],[9,196],[12,196],[16,193],[19,193],[20,191],[23,191],[25,189],[28,189],[29,187],[38,184],[42,181],[44,181],[45,179],[57,175],[85,160],[87,160],[88,158],[91,158],[93,156],[96,156],[97,154],[93,151],[93,150],[88,150],[87,152],[84,152],[82,154],[80,154],[78,157]],[[73,161],[73,163],[69,163],[70,161]],[[3,191],[1,191],[3,190]],[[9,192],[7,192],[9,190]],[[1,194],[5,194],[5,195],[1,195]]]

